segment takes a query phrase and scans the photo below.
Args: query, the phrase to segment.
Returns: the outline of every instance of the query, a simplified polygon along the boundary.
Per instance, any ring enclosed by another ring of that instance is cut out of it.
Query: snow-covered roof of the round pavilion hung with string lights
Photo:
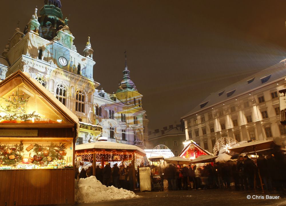
[[[76,151],[82,150],[82,149],[128,149],[128,150],[138,150],[143,154],[146,154],[146,152],[135,146],[135,145],[128,145],[123,143],[117,143],[117,142],[108,142],[108,141],[98,141],[98,142],[91,142],[91,143],[85,143],[81,145],[76,145]]]

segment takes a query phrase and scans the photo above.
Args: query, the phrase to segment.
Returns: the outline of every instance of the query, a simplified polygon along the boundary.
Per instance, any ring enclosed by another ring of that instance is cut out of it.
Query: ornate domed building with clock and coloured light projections
[[[0,78],[21,70],[39,81],[80,119],[78,144],[104,136],[145,149],[148,119],[143,95],[130,79],[126,58],[116,93],[96,89],[100,83],[93,79],[96,62],[90,37],[80,55],[68,21],[63,19],[59,0],[45,0],[39,16],[35,9],[24,31],[16,28],[8,40],[0,56]]]

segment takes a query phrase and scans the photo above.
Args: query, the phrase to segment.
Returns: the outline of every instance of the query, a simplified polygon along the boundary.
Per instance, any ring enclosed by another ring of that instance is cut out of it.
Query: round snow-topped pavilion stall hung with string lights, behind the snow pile
[[[129,161],[133,165],[133,187],[135,189],[135,167],[144,161],[146,153],[135,146],[116,142],[97,141],[76,145],[76,161],[92,162],[95,176],[96,162],[104,165],[105,162]],[[95,161],[94,161],[95,160]]]

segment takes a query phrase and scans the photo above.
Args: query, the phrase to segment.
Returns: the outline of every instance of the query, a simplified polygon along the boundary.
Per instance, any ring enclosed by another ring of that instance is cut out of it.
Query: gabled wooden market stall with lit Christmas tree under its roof
[[[74,203],[78,118],[27,73],[0,83],[0,203]]]

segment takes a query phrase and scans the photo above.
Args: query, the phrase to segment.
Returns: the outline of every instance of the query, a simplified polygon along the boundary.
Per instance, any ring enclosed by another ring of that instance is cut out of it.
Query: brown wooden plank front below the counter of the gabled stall
[[[0,170],[0,203],[74,203],[74,169]]]

